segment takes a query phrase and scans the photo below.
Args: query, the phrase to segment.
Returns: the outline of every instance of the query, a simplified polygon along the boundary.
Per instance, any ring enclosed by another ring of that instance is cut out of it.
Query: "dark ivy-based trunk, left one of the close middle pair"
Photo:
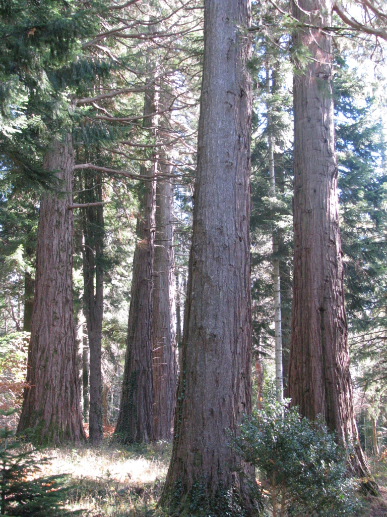
[[[144,115],[157,111],[156,92],[145,96]],[[144,118],[144,127],[156,126],[155,117]],[[155,176],[152,166],[141,165],[141,174]],[[140,186],[140,213],[137,218],[137,245],[133,258],[131,305],[129,309],[125,369],[120,411],[115,436],[123,443],[154,439],[152,375],[152,296],[156,209],[156,180]]]

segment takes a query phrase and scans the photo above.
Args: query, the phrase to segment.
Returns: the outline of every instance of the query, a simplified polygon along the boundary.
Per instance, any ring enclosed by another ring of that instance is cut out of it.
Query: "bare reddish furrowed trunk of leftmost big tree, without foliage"
[[[44,168],[58,171],[59,195],[40,203],[35,301],[28,348],[27,383],[18,432],[35,431],[38,443],[85,439],[79,407],[73,320],[72,139],[55,140]]]

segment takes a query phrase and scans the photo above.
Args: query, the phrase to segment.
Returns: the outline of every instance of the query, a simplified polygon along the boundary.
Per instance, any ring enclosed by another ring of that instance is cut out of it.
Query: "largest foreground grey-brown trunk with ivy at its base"
[[[229,434],[251,410],[249,22],[247,0],[204,2],[183,358],[172,459],[160,501],[178,515],[254,511],[246,478],[253,470],[237,470]]]

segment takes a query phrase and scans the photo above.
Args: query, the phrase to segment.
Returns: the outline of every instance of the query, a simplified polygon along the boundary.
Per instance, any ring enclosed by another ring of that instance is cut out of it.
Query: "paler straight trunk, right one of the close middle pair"
[[[172,173],[159,163],[160,173]],[[153,422],[156,440],[172,440],[176,406],[176,336],[172,178],[158,179],[153,276]]]

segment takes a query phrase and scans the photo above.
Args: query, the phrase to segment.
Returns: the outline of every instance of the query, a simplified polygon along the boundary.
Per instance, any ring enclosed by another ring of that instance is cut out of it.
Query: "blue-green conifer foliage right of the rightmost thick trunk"
[[[375,99],[342,58],[333,82],[338,186],[345,254],[346,310],[351,332],[385,326],[387,174]],[[362,106],[359,107],[359,98]],[[363,100],[364,99],[364,100]]]

